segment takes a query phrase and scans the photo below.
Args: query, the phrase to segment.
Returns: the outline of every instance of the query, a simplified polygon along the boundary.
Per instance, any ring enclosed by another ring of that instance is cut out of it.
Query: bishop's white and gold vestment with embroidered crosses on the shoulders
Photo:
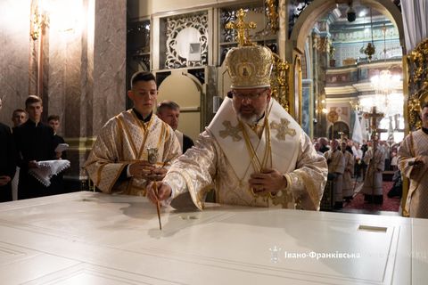
[[[226,98],[195,146],[174,162],[163,180],[173,189],[173,198],[188,197],[190,192],[193,204],[202,209],[206,192],[214,188],[221,204],[278,208],[299,204],[299,208],[319,209],[327,175],[324,157],[274,99],[266,116],[259,137],[237,120],[232,100]],[[249,151],[248,143],[256,154]],[[252,193],[248,180],[259,171],[251,162],[256,156],[260,161],[267,159],[265,167],[284,174],[287,189],[275,196]]]

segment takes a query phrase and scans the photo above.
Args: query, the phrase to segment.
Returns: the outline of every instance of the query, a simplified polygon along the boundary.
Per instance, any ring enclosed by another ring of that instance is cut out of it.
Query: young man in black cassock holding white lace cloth
[[[51,184],[45,187],[29,174],[29,169],[37,167],[37,161],[57,159],[55,153],[53,129],[40,120],[43,112],[42,100],[30,95],[25,101],[25,110],[29,119],[13,130],[13,136],[18,151],[18,165],[21,167],[18,184],[18,199],[29,199],[62,193],[58,186],[58,176],[54,175]]]

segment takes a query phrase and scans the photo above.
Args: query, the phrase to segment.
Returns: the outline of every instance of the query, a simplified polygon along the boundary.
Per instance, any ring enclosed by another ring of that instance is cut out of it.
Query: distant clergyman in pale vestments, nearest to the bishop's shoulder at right
[[[339,150],[339,141],[332,140],[331,149],[324,152],[328,165],[328,180],[333,182],[334,208],[343,208],[343,172],[345,171],[345,159]]]

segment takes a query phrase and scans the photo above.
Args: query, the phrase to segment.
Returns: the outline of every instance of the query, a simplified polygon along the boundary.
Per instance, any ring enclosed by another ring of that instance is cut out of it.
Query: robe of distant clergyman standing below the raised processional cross
[[[378,148],[366,151],[363,160],[368,167],[361,192],[366,195],[382,196],[382,174],[385,169],[385,153],[383,149]]]

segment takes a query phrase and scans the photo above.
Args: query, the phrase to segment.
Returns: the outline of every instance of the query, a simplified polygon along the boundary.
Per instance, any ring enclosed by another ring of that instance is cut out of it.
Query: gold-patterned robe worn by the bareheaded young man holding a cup
[[[95,186],[103,192],[145,195],[146,180],[133,177],[117,180],[128,164],[147,160],[147,148],[158,149],[157,167],[169,167],[181,154],[176,134],[156,115],[143,122],[134,110],[123,111],[103,126],[85,167]]]

